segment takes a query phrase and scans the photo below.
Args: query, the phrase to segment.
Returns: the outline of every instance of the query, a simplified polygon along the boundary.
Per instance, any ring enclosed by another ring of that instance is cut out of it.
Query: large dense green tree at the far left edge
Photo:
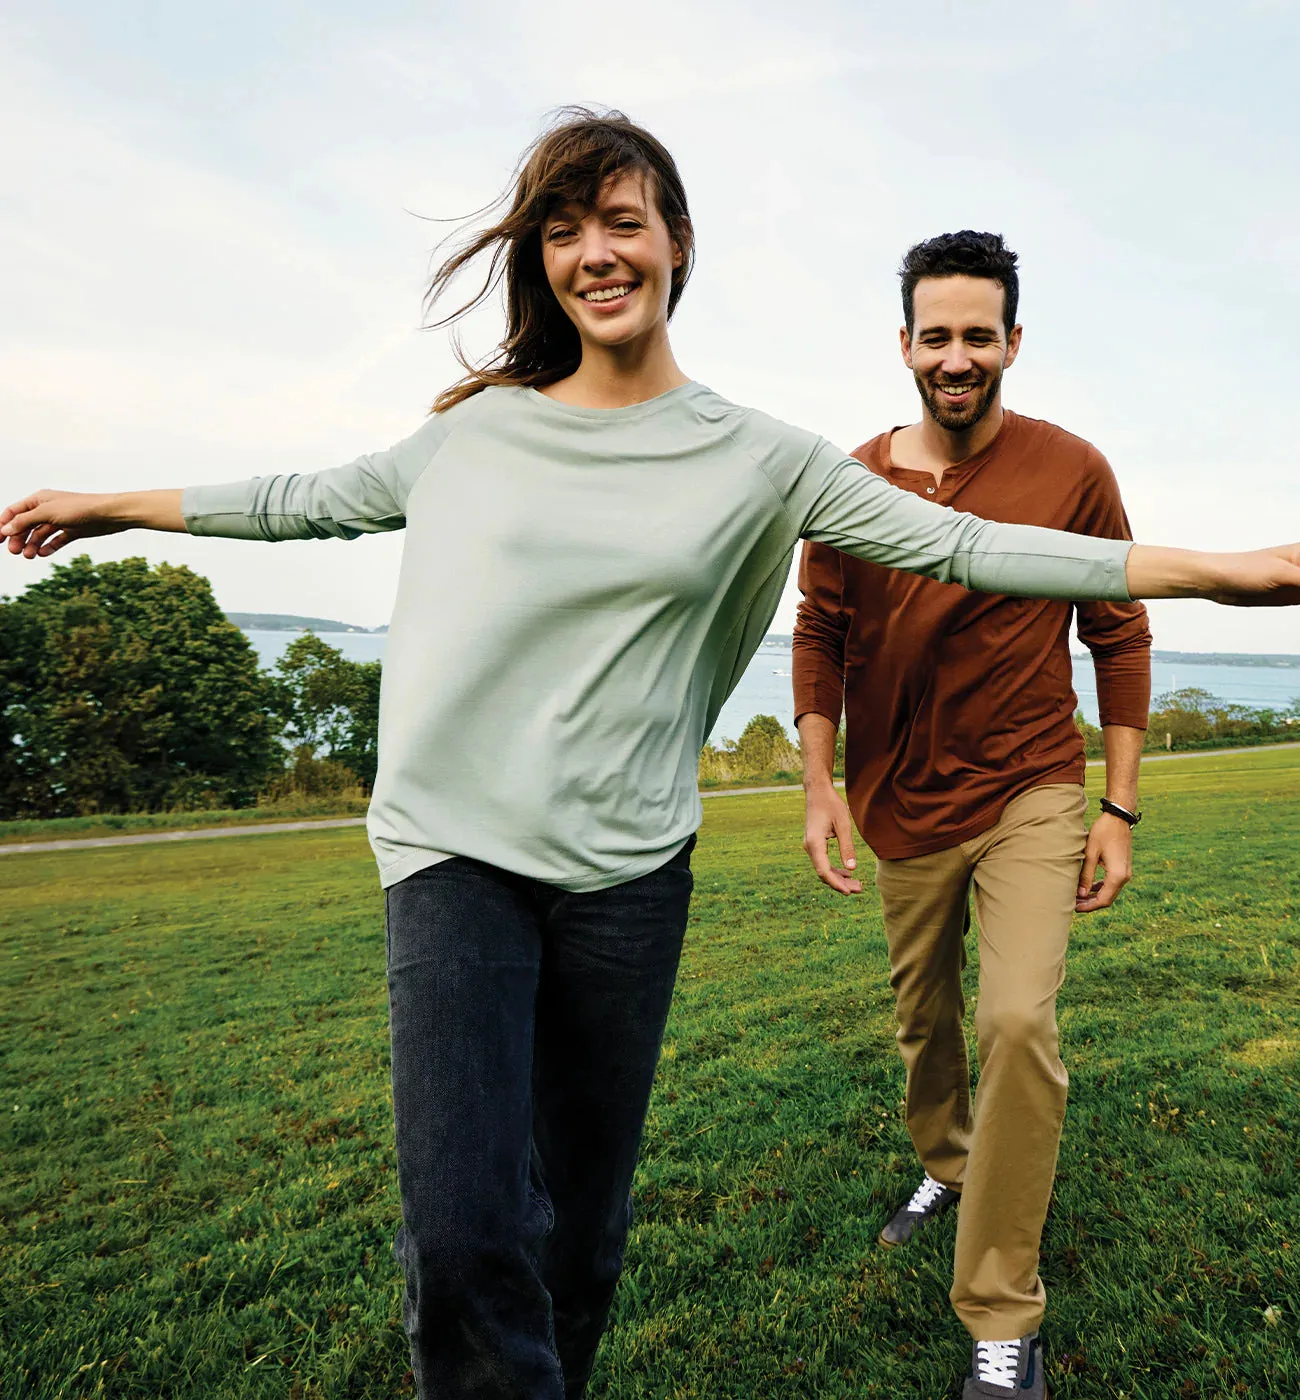
[[[274,699],[206,578],[56,566],[0,599],[0,818],[242,806],[284,762]]]

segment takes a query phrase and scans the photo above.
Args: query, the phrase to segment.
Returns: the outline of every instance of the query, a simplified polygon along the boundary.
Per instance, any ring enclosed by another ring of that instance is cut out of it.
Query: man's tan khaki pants
[[[1086,805],[1073,783],[1031,788],[981,836],[876,868],[907,1127],[925,1170],[961,1191],[950,1298],[977,1341],[1023,1337],[1043,1317],[1038,1240],[1069,1082],[1057,993]],[[961,1023],[971,886],[980,931],[974,1103]]]

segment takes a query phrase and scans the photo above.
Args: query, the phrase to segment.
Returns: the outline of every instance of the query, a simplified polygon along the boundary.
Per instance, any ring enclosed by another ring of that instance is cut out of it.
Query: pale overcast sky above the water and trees
[[[1136,536],[1300,539],[1297,73],[1285,0],[10,0],[0,494],[404,437],[456,377],[418,329],[428,218],[487,203],[547,111],[589,102],[681,167],[687,374],[845,448],[911,421],[900,255],[996,230],[1022,256],[1005,399],[1107,454]],[[369,626],[400,543],[85,547],[186,563],[227,609]],[[0,592],[48,567],[0,559]],[[1159,647],[1300,651],[1294,610],[1153,617]]]

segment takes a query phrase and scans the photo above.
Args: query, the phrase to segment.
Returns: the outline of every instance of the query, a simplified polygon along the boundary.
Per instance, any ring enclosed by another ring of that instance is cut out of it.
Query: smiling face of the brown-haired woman
[[[553,210],[542,225],[542,253],[584,346],[616,349],[663,333],[683,255],[642,171],[613,174],[593,206]]]

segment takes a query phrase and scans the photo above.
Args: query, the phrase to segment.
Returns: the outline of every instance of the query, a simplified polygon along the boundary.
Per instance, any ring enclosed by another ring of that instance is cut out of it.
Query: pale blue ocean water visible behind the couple
[[[249,631],[248,637],[262,658],[271,666],[281,651],[294,640],[292,631]],[[386,633],[327,631],[323,641],[337,647],[353,661],[381,661],[388,643]],[[709,735],[712,742],[739,739],[744,725],[756,714],[774,714],[793,734],[793,706],[791,700],[791,650],[788,645],[764,643],[740,685],[722,707],[722,714]],[[1187,662],[1152,662],[1152,696],[1196,686],[1237,704],[1262,710],[1285,710],[1300,697],[1300,666],[1215,666]],[[1091,724],[1097,722],[1097,682],[1089,657],[1075,658],[1075,693],[1079,708]]]

